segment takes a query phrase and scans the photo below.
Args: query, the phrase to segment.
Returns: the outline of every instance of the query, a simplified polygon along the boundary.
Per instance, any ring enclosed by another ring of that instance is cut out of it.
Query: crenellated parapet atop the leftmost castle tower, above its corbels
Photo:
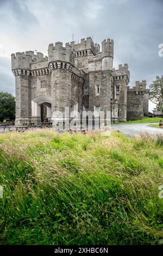
[[[43,57],[43,53],[34,51],[16,52],[11,54],[11,66],[13,69],[30,69],[30,64],[46,60],[47,57]]]

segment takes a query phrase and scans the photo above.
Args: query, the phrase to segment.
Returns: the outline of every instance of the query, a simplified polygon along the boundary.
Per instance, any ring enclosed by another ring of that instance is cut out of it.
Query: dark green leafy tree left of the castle
[[[15,97],[10,93],[0,92],[0,121],[15,120]]]

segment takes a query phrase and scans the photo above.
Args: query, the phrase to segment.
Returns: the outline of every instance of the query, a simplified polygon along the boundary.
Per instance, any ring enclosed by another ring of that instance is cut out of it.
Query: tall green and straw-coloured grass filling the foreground
[[[0,136],[0,243],[156,245],[163,138],[54,131]]]

